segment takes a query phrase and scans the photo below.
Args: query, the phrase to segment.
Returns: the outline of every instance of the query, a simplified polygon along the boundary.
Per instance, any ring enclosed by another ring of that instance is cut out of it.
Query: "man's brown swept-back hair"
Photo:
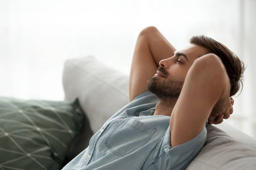
[[[191,44],[203,46],[210,50],[211,53],[214,53],[220,57],[227,70],[230,80],[230,97],[234,96],[238,92],[240,85],[242,85],[243,89],[243,74],[245,71],[244,63],[236,56],[235,53],[230,51],[220,42],[204,35],[193,36],[189,42]]]

